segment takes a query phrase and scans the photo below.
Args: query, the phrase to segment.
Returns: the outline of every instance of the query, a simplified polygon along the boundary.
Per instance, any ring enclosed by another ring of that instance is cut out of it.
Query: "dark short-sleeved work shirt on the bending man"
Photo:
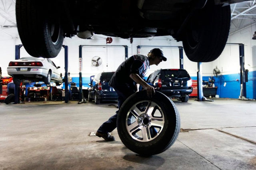
[[[138,74],[143,78],[146,75],[148,68],[149,60],[147,56],[139,54],[133,55],[120,64],[112,76],[109,85],[116,89],[120,89],[124,86],[129,86],[130,88],[135,89],[136,82],[130,78],[130,74]]]

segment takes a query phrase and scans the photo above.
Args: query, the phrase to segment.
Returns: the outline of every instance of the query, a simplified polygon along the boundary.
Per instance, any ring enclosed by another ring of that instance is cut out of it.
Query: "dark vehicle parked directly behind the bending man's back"
[[[101,72],[94,76],[90,88],[88,89],[88,100],[94,100],[95,104],[100,104],[102,101],[116,101],[118,99],[114,88],[108,85],[110,79],[115,72]]]

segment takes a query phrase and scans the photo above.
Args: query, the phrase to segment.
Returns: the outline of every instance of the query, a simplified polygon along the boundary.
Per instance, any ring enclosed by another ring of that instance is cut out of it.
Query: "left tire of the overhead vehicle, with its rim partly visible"
[[[51,21],[47,17],[47,12],[38,1],[16,0],[16,21],[20,39],[26,51],[33,57],[54,58],[62,48],[63,29],[58,21]]]

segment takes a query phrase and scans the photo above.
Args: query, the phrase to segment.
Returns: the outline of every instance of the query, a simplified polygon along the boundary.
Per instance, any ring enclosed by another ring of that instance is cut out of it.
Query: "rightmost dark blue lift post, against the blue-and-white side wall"
[[[240,86],[241,92],[239,98],[246,98],[246,80],[244,68],[244,44],[239,44],[239,61],[240,61]]]

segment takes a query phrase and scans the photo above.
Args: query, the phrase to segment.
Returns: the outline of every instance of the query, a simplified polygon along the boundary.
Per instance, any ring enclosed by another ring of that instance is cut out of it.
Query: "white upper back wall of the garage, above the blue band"
[[[15,59],[15,47],[14,45],[21,44],[21,41],[18,37],[18,31],[15,28],[6,29],[6,32],[10,32],[13,37],[10,35],[7,35],[0,31],[0,66],[2,67],[3,76],[8,76],[7,74],[7,66],[8,63],[11,60]],[[249,34],[248,34],[249,35]],[[176,42],[171,36],[164,36],[164,37],[150,37],[150,38],[134,38],[133,44],[130,44],[129,39],[121,39],[112,37],[113,42],[108,45],[127,45],[128,46],[128,57],[130,57],[133,54],[137,53],[137,46],[138,45],[157,45],[157,46],[182,46],[182,42]],[[94,35],[93,39],[80,39],[78,37],[72,37],[65,38],[64,39],[64,45],[68,45],[68,57],[69,57],[69,65],[68,65],[68,71],[70,72],[71,77],[77,77],[79,70],[78,70],[78,57],[79,57],[79,45],[106,45],[106,36],[104,35]],[[147,53],[152,48],[142,48],[141,54],[147,55]],[[160,63],[158,66],[151,66],[150,74],[154,70],[157,70],[159,68],[179,68],[179,51],[178,48],[162,48],[162,51],[164,52],[164,55],[167,58],[166,62]],[[228,53],[228,50],[225,49],[224,52],[225,55],[230,55]],[[116,68],[119,66],[122,61],[124,61],[124,47],[118,47],[118,48],[111,48],[108,47],[108,54],[106,52],[106,48],[102,47],[84,47],[82,49],[83,52],[83,71],[82,74],[84,77],[88,77],[91,75],[94,75],[101,71],[110,71],[110,70],[116,70]],[[232,52],[231,54],[233,55]],[[24,47],[20,50],[20,56],[26,57],[28,56],[28,53],[26,53]],[[92,66],[91,59],[94,56],[100,56],[102,58],[102,65],[99,67]],[[228,70],[229,66],[226,66],[226,56],[220,57],[222,61],[219,61],[220,59],[217,59],[214,62],[211,63],[203,63],[203,76],[211,76],[212,75],[212,69],[218,65],[218,68],[223,67],[226,70]],[[108,67],[107,67],[107,59],[108,59]],[[228,57],[228,60],[230,57]],[[52,59],[54,63],[57,66],[60,66],[62,69],[62,72],[64,74],[64,49],[60,51],[60,54]],[[223,62],[224,61],[224,62]],[[222,65],[220,65],[222,63]],[[234,60],[235,63],[235,60]],[[254,61],[254,63],[256,63]],[[237,62],[236,62],[237,64]],[[225,65],[225,66],[224,66]],[[238,66],[239,66],[239,59],[238,59]],[[196,76],[197,72],[197,63],[191,62],[184,53],[184,69],[186,69],[190,76]],[[148,76],[148,75],[146,75]]]

